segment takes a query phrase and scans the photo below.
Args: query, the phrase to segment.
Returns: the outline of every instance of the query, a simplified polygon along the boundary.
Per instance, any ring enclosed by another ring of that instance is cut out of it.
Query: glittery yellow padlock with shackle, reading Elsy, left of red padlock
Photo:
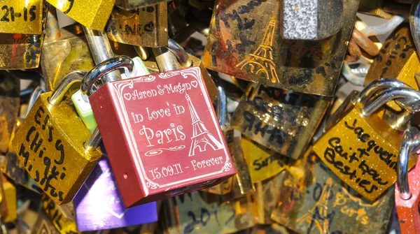
[[[90,138],[76,111],[61,102],[83,75],[69,73],[54,92],[41,94],[12,141],[29,175],[59,205],[73,199],[102,156],[99,131]]]

